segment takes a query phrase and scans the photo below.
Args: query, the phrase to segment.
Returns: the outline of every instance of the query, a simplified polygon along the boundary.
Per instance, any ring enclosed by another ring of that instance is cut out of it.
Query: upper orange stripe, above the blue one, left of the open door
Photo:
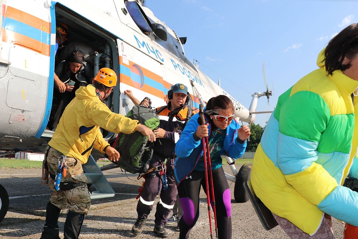
[[[3,5],[3,7],[5,7],[5,5]],[[10,6],[7,7],[4,18],[11,18],[42,30],[43,32],[50,33],[51,24],[49,22]]]

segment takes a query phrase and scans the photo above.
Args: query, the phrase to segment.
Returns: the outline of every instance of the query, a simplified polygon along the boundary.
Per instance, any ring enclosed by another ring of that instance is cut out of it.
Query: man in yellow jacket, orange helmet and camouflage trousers
[[[106,153],[111,161],[118,161],[120,156],[118,151],[103,139],[100,127],[117,134],[130,134],[137,130],[151,142],[155,141],[151,129],[137,120],[113,113],[103,103],[117,84],[117,76],[113,70],[102,68],[92,83],[81,86],[76,91],[76,97],[64,110],[49,146],[45,149],[44,165],[48,166],[49,187],[53,193],[46,207],[46,221],[41,239],[59,238],[57,221],[61,209],[68,209],[64,239],[78,238],[84,216],[91,205],[82,164],[87,162],[93,147]],[[54,186],[55,174],[62,155],[67,157],[67,171],[57,191]]]

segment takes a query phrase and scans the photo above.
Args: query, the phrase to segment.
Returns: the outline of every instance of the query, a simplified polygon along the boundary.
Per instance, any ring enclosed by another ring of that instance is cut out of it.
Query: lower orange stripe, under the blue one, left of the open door
[[[26,37],[25,35],[7,29],[3,29],[3,42],[9,42],[15,45],[26,47],[44,56],[50,56],[51,45],[39,42],[38,40]]]

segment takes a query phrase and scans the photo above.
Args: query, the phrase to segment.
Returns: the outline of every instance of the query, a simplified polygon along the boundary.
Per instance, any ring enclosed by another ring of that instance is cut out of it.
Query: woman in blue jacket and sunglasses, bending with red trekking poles
[[[179,238],[186,239],[199,217],[200,186],[205,188],[203,144],[201,138],[208,137],[211,169],[219,239],[231,239],[231,194],[221,155],[239,158],[245,152],[246,139],[250,135],[247,125],[233,120],[234,107],[224,95],[211,98],[205,109],[205,121],[201,124],[199,114],[190,118],[180,139],[176,143],[175,178],[178,195],[183,207],[179,221]]]

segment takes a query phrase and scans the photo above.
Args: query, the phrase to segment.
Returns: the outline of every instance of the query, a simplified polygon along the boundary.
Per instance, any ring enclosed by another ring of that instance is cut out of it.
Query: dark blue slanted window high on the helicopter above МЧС
[[[126,1],[125,5],[129,15],[142,32],[153,32],[152,24],[136,1]]]

